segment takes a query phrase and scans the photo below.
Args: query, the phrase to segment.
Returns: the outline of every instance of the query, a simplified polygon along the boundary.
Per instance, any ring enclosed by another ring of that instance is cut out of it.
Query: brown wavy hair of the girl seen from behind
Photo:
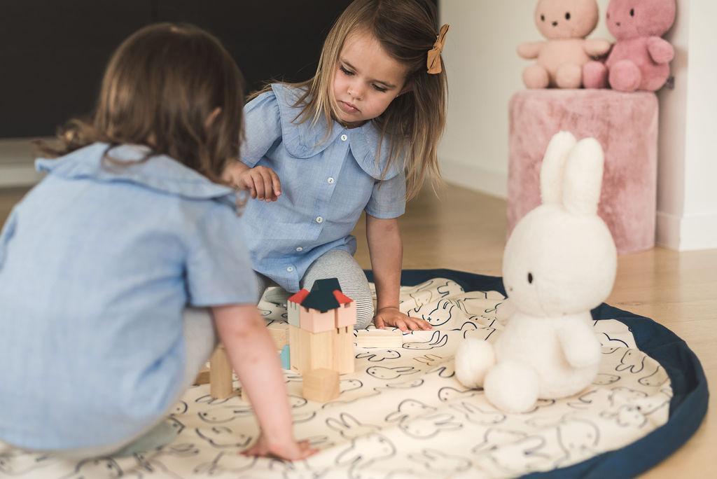
[[[190,24],[152,24],[113,53],[90,119],[68,121],[56,144],[37,146],[57,157],[98,141],[109,148],[142,144],[151,149],[143,160],[171,156],[225,184],[224,166],[239,158],[243,85],[236,62],[212,34]]]

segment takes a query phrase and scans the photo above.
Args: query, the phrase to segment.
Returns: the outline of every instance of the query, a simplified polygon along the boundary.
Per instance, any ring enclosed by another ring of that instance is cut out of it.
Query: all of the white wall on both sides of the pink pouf
[[[609,0],[598,0],[591,37],[612,39],[604,22]],[[541,40],[536,1],[441,0],[450,23],[444,60],[449,75],[448,123],[439,148],[447,181],[505,197],[508,100],[523,88],[528,65],[522,42]],[[678,0],[666,38],[677,52],[675,89],[660,90],[657,243],[678,250],[717,247],[717,1]]]

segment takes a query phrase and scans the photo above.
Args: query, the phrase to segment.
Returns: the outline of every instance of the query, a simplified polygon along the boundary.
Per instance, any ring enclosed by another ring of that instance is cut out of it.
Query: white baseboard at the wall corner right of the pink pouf
[[[717,214],[679,217],[657,212],[657,245],[678,251],[717,248]]]

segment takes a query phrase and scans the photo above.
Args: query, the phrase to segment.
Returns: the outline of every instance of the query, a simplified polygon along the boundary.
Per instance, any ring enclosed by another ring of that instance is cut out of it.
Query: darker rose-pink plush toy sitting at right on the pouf
[[[584,69],[588,88],[659,90],[670,76],[675,49],[662,35],[675,22],[675,0],[610,0],[607,28],[617,39],[603,65],[590,62]]]

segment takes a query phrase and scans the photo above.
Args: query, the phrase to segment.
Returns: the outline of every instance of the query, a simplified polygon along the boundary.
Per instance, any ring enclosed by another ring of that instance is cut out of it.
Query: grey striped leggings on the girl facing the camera
[[[257,303],[265,290],[275,283],[266,276],[256,273],[259,295]],[[374,318],[374,299],[371,296],[369,280],[366,279],[364,270],[359,263],[344,250],[330,250],[315,260],[300,281],[300,287],[311,290],[315,280],[326,278],[338,278],[343,294],[356,301],[356,329],[366,328]],[[271,298],[274,303],[286,303],[289,293],[284,290],[272,292]]]

